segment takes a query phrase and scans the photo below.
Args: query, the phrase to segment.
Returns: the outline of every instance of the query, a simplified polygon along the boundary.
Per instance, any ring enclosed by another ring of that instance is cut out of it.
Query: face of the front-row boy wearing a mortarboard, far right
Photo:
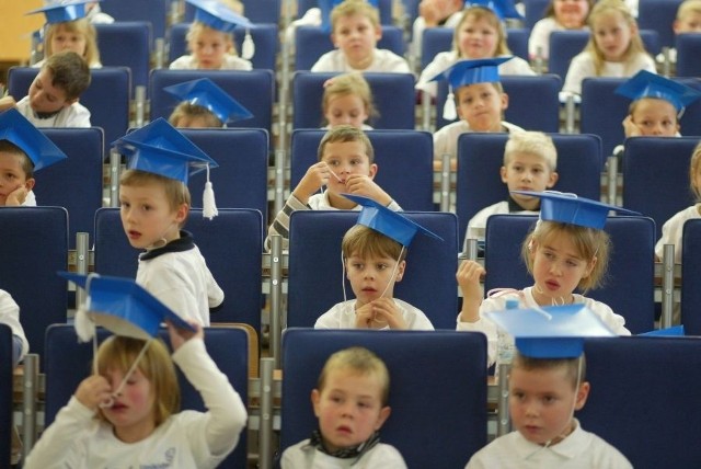
[[[544,445],[559,443],[572,433],[573,410],[584,407],[589,384],[582,384],[575,396],[572,378],[564,368],[526,370],[515,367],[508,378],[508,388],[514,427],[529,442]]]

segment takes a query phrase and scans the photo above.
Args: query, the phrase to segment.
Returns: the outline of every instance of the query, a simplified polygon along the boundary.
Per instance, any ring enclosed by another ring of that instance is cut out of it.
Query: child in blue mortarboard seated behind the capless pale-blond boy
[[[508,107],[508,95],[499,83],[498,66],[509,57],[460,60],[434,77],[448,80],[455,93],[455,103],[460,121],[448,124],[434,134],[434,159],[444,155],[458,157],[458,137],[468,131],[522,131],[517,125],[502,119]],[[446,107],[452,103],[452,93],[446,100]]]

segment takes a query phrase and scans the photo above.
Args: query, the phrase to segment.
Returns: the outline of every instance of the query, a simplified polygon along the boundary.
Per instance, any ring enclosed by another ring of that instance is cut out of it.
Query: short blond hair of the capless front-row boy
[[[389,403],[390,397],[390,373],[384,362],[365,347],[349,347],[331,355],[319,375],[317,390],[322,392],[326,386],[326,378],[332,371],[341,369],[349,370],[356,375],[375,375],[380,379],[380,401],[382,407]]]

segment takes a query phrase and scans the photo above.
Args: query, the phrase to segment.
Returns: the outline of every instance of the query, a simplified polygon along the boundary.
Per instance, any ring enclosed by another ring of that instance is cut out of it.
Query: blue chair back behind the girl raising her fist
[[[486,222],[484,290],[524,288],[533,281],[520,259],[520,249],[537,217],[493,215]],[[633,334],[654,329],[655,222],[646,217],[609,217],[604,228],[611,239],[609,270],[604,287],[587,297],[604,301],[625,318]],[[634,291],[634,295],[622,294]]]

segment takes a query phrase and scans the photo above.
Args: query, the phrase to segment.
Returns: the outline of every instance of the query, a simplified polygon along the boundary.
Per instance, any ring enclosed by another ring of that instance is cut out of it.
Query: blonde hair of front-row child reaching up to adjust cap
[[[97,350],[97,373],[105,376],[111,369],[127,373],[143,348],[145,341],[112,335]],[[180,386],[175,366],[168,347],[160,339],[151,340],[146,353],[137,365],[139,371],[151,385],[153,396],[153,421],[156,426],[180,410]],[[105,420],[102,412],[100,420]]]

